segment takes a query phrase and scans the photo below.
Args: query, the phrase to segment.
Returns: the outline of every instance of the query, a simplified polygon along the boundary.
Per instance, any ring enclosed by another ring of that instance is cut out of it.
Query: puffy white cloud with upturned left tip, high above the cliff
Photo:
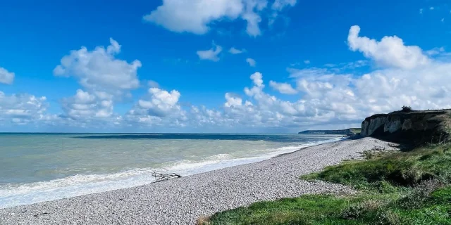
[[[378,65],[390,68],[412,69],[430,63],[419,46],[405,46],[396,36],[383,37],[381,41],[359,37],[360,27],[352,26],[347,42],[352,51],[364,53]]]

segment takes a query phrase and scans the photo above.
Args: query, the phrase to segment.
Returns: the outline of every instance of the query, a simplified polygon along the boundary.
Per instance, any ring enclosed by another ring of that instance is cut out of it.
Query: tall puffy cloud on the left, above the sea
[[[97,46],[89,51],[83,46],[61,59],[54,75],[75,77],[85,89],[63,98],[63,110],[70,119],[106,121],[117,118],[113,113],[114,101],[121,101],[130,95],[130,90],[139,87],[137,69],[141,67],[139,60],[128,63],[116,58],[120,52],[121,45],[110,39],[106,48]]]

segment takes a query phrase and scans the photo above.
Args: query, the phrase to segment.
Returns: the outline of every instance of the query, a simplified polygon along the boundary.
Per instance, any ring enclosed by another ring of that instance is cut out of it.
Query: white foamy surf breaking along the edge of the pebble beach
[[[152,176],[152,172],[154,171],[175,172],[182,176],[188,176],[215,169],[260,162],[277,155],[292,153],[300,148],[340,141],[342,139],[345,138],[338,137],[325,141],[311,141],[297,146],[256,150],[255,152],[260,153],[260,155],[247,158],[235,158],[233,155],[218,154],[204,158],[201,162],[181,160],[173,163],[173,165],[161,168],[130,169],[114,174],[78,174],[62,179],[39,181],[30,184],[4,184],[0,185],[0,208],[41,203],[49,200],[150,184],[154,181]]]

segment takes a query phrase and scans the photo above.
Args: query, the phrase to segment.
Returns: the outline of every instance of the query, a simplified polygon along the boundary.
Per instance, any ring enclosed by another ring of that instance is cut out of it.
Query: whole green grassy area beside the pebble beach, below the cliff
[[[450,224],[451,146],[367,155],[302,176],[357,195],[302,195],[218,212],[199,224]]]

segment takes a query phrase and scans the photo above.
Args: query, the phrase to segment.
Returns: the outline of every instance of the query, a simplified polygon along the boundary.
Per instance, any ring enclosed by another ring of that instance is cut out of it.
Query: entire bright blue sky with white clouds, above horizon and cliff
[[[293,133],[451,108],[440,0],[4,1],[0,131]]]

